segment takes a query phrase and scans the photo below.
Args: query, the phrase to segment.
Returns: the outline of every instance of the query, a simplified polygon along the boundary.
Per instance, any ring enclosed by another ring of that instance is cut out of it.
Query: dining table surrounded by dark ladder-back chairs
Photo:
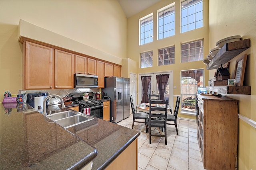
[[[149,113],[149,106],[150,106],[150,103],[141,103],[141,104],[138,104],[136,106],[136,111],[142,111],[142,112],[146,112],[146,113]],[[152,104],[152,107],[164,107],[165,108],[165,104]],[[172,112],[172,107],[170,106],[167,106],[167,112]],[[158,113],[164,113],[164,111],[157,111]],[[153,112],[154,113],[154,112]],[[146,129],[146,127],[144,127],[141,131],[144,131]],[[163,132],[160,130],[160,128],[157,128],[159,133],[161,133],[163,135]]]

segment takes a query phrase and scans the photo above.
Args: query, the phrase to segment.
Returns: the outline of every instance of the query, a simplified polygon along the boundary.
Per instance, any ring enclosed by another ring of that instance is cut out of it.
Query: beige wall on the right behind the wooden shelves
[[[209,3],[209,48],[225,37],[241,35],[250,38],[251,47],[230,61],[230,74],[234,78],[236,59],[248,54],[245,85],[251,86],[252,95],[226,95],[239,100],[239,113],[256,121],[256,1],[254,0],[210,0]],[[210,78],[215,70],[210,70]],[[250,170],[256,167],[256,129],[239,119],[238,169]]]

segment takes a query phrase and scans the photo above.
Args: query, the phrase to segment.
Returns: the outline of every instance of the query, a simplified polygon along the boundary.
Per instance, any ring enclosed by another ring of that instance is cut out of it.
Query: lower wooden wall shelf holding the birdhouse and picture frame
[[[251,94],[251,86],[207,86],[206,89],[221,94]]]

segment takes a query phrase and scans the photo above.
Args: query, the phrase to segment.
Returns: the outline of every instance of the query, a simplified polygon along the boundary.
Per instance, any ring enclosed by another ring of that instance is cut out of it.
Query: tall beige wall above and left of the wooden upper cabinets
[[[7,90],[17,94],[22,88],[22,51],[18,43],[20,19],[71,39],[71,42],[90,46],[88,53],[96,55],[93,57],[113,63],[126,58],[127,19],[117,0],[0,0],[0,9],[1,94]],[[40,34],[33,29],[28,32]],[[50,35],[40,36],[52,39]],[[72,47],[73,43],[66,41],[65,45]],[[102,57],[104,55],[107,57]]]

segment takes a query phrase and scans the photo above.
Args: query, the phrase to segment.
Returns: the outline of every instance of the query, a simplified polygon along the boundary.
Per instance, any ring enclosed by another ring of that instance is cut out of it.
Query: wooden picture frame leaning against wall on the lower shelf
[[[237,86],[243,86],[246,60],[247,60],[247,54],[244,54],[242,57],[236,60],[235,79],[236,79]]]

